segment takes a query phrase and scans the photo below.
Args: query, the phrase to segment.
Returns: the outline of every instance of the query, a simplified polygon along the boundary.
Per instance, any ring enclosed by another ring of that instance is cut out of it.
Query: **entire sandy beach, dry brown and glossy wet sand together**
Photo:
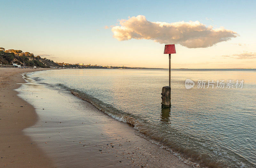
[[[30,82],[20,86],[16,83],[24,83],[20,74],[25,71],[13,71],[12,77],[4,77],[11,72],[0,69],[0,126],[4,128],[1,165],[191,167],[142,138],[131,125],[116,121],[91,103],[69,92],[33,83],[29,78]]]

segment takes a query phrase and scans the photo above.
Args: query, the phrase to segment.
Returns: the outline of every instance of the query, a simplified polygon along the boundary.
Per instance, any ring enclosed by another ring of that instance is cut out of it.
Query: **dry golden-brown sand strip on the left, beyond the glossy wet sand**
[[[23,132],[36,124],[38,115],[14,90],[20,87],[19,83],[25,83],[21,74],[40,70],[46,69],[0,68],[1,166],[54,167],[52,160]]]

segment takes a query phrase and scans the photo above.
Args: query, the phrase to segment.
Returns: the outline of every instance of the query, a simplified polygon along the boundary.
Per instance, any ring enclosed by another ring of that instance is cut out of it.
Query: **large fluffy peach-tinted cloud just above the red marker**
[[[114,38],[119,41],[149,39],[160,44],[180,44],[188,48],[206,48],[238,36],[223,27],[213,29],[199,21],[151,22],[138,15],[128,20],[120,20],[121,26],[114,26]]]

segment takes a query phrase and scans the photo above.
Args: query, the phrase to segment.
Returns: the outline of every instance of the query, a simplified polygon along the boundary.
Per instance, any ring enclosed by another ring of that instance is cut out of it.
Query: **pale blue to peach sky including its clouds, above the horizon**
[[[55,62],[256,68],[256,1],[0,2],[0,47]]]

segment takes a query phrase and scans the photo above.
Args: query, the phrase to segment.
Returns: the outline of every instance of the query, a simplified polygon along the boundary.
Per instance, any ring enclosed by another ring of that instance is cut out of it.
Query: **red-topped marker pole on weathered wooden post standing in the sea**
[[[171,107],[171,54],[175,54],[175,44],[164,46],[164,54],[169,54],[169,86],[162,88],[162,108]]]

